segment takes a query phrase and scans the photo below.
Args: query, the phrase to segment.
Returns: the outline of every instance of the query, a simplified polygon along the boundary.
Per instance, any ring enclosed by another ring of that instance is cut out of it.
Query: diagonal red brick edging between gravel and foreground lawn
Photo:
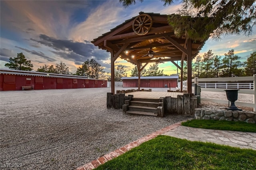
[[[85,164],[84,166],[81,166],[79,168],[76,168],[76,170],[92,170],[94,168],[97,168],[98,166],[100,166],[101,164],[104,164],[105,162],[107,162],[108,160],[111,160],[113,158],[116,158],[117,156],[124,154],[125,152],[127,152],[128,150],[131,150],[132,148],[138,147],[140,144],[149,141],[150,139],[153,139],[155,137],[157,137],[158,135],[162,135],[163,133],[166,133],[178,126],[181,125],[181,121],[178,123],[174,123],[173,125],[164,127],[163,129],[160,129],[154,133],[151,133],[147,136],[144,136],[136,141],[133,141],[131,143],[129,143],[128,145],[125,145],[124,147],[121,147],[119,149],[116,149],[113,152],[110,152],[108,154],[105,154],[104,156],[93,160],[92,162],[89,162],[87,164]]]

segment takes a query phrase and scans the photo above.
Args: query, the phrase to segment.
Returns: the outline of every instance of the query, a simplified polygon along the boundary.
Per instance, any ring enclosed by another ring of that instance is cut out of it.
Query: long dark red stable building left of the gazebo
[[[107,87],[107,80],[45,72],[0,70],[0,91],[22,90],[22,86],[32,86],[34,90],[102,88]]]

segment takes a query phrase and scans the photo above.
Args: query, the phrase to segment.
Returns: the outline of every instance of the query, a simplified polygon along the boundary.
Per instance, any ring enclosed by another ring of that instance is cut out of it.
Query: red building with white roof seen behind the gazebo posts
[[[122,77],[123,87],[138,87],[138,77]],[[178,76],[141,76],[140,87],[144,88],[175,88]]]

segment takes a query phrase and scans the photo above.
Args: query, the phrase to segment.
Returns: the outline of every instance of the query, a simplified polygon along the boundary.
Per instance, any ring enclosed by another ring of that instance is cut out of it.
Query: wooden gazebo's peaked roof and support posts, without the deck
[[[188,93],[192,94],[192,59],[206,40],[192,40],[186,35],[177,38],[174,35],[175,29],[168,24],[167,18],[167,15],[140,12],[139,16],[126,20],[92,41],[100,49],[111,53],[112,94],[115,94],[114,63],[118,57],[137,66],[139,90],[140,71],[148,63],[170,61],[183,74],[183,61],[187,61],[187,87]],[[189,20],[191,19],[193,18],[190,17]],[[181,61],[181,66],[175,61]]]

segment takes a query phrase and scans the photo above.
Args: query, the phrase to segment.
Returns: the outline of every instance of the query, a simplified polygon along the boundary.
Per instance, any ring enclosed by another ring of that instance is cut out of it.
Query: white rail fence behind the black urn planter
[[[238,93],[253,94],[254,103],[236,102],[238,106],[253,107],[256,111],[256,74],[248,77],[225,77],[225,78],[194,78],[192,79],[192,88],[194,84],[201,87],[201,91],[223,92],[225,89],[239,89]],[[178,84],[180,88],[180,82]],[[183,82],[183,90],[187,90],[187,82]],[[201,100],[228,104],[228,100],[202,98]]]

